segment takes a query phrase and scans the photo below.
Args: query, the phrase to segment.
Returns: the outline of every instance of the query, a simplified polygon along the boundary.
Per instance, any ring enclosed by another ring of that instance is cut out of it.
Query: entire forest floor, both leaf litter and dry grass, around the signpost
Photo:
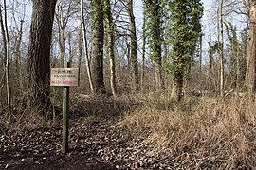
[[[44,122],[17,100],[9,127],[0,109],[0,169],[255,169],[256,105],[246,98],[72,95],[66,154],[61,101]]]

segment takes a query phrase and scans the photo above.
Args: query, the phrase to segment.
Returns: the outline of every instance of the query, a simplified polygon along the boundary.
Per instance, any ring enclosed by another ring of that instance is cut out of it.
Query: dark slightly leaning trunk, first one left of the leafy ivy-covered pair
[[[137,62],[137,35],[136,35],[136,22],[134,16],[133,0],[128,0],[127,3],[129,24],[130,24],[130,37],[131,37],[131,61],[133,65],[133,84],[134,89],[137,91],[139,89],[138,84],[138,62]]]

